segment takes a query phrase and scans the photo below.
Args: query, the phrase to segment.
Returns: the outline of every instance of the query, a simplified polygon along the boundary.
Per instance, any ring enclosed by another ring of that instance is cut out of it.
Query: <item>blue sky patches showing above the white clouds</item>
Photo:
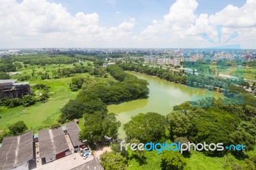
[[[145,29],[152,23],[152,19],[162,19],[169,12],[170,6],[175,0],[52,0],[61,3],[68,12],[76,15],[77,12],[93,13],[100,16],[100,26],[118,25],[129,18],[136,18],[136,31]],[[198,0],[196,14],[207,13],[209,15],[220,12],[228,4],[241,7],[245,0]]]

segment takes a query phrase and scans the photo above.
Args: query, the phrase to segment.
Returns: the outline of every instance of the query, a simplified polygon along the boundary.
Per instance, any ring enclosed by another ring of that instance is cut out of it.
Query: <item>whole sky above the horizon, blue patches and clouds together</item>
[[[256,0],[0,0],[0,4],[0,48],[239,44],[242,49],[256,49]],[[235,32],[238,36],[225,43]]]

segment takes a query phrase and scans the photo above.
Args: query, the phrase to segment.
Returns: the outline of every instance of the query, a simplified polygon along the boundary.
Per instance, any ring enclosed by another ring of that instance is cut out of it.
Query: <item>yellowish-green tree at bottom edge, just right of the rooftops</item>
[[[105,151],[100,155],[100,164],[105,170],[125,170],[127,169],[127,160],[120,153],[111,153]]]

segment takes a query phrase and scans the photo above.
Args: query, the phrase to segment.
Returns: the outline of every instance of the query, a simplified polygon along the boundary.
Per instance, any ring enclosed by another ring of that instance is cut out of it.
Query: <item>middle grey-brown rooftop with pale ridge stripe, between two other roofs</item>
[[[38,132],[40,158],[56,155],[68,150],[67,140],[61,127]]]

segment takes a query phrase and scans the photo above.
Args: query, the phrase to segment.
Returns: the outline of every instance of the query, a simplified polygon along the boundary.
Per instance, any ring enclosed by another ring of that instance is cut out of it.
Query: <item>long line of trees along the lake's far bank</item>
[[[122,63],[120,64],[120,67],[124,68],[124,70],[153,75],[159,77],[160,79],[165,79],[166,81],[185,84],[195,88],[220,91],[223,93],[229,91],[229,88],[232,84],[238,84],[241,86],[248,85],[248,83],[244,82],[242,79],[220,79],[218,77],[204,75],[201,73],[196,75],[195,72],[185,72],[184,70],[173,71],[158,67],[129,63]]]

